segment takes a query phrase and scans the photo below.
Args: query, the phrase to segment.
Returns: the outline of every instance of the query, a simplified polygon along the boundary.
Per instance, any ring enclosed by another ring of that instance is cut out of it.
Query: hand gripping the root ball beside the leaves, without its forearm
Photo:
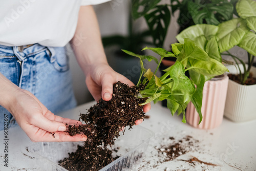
[[[101,97],[105,101],[109,101],[113,94],[113,84],[117,81],[134,86],[134,83],[115,72],[107,63],[95,63],[90,66],[86,75],[86,84],[88,90],[93,95],[94,99],[98,101]],[[148,103],[143,106],[143,111],[148,112],[151,109],[151,104]],[[140,124],[143,119],[137,120],[136,125]]]

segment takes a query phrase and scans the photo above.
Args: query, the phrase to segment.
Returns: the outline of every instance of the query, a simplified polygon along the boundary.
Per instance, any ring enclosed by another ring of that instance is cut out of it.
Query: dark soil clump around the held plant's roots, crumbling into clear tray
[[[110,101],[100,99],[87,114],[80,114],[79,120],[86,124],[69,125],[68,132],[71,136],[84,134],[88,139],[59,164],[68,170],[99,170],[118,158],[114,158],[106,147],[114,145],[123,127],[124,133],[125,126],[129,125],[131,129],[136,120],[145,116],[140,105],[145,99],[137,98],[142,89],[143,86],[130,88],[118,81],[113,86]]]

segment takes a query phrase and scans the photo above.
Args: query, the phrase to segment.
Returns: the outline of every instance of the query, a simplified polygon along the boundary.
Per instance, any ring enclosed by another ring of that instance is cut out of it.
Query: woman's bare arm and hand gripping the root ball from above
[[[82,35],[86,39],[78,39]],[[79,42],[77,44],[76,42]],[[86,83],[94,99],[101,97],[108,101],[112,98],[113,84],[117,81],[133,86],[134,84],[121,74],[115,72],[106,60],[102,46],[100,30],[94,9],[92,6],[81,6],[75,36],[70,42],[79,66],[86,75]],[[151,105],[144,105],[144,112],[150,111]],[[137,120],[136,124],[143,121]]]

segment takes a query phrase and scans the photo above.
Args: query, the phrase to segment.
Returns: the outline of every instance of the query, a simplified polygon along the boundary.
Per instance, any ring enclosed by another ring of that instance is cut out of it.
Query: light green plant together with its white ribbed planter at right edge
[[[254,56],[256,55],[256,2],[252,0],[239,0],[236,5],[238,17],[226,22],[214,25],[195,25],[182,31],[177,39],[182,42],[183,38],[195,40],[198,45],[204,47],[205,42],[212,37],[216,37],[219,52],[222,55],[229,55],[237,63],[239,70],[239,83],[229,80],[227,100],[225,105],[225,116],[232,121],[246,121],[256,119],[253,114],[256,108],[253,99],[256,96],[255,85],[244,86],[252,68]],[[239,57],[232,55],[229,50],[238,46],[248,53],[248,67]],[[239,63],[242,63],[242,68]],[[244,73],[243,73],[244,71]],[[255,73],[256,74],[256,73]],[[237,88],[236,88],[237,87]],[[232,89],[236,92],[232,92]],[[249,89],[249,90],[244,90]],[[246,94],[242,95],[242,92]],[[241,94],[238,96],[236,93]],[[249,97],[248,95],[252,95]],[[240,107],[241,106],[241,107]]]

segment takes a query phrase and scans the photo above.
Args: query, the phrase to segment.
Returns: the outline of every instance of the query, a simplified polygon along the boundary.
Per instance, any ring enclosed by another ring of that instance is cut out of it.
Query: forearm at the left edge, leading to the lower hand
[[[0,105],[9,110],[15,93],[20,90],[13,82],[0,73]]]

